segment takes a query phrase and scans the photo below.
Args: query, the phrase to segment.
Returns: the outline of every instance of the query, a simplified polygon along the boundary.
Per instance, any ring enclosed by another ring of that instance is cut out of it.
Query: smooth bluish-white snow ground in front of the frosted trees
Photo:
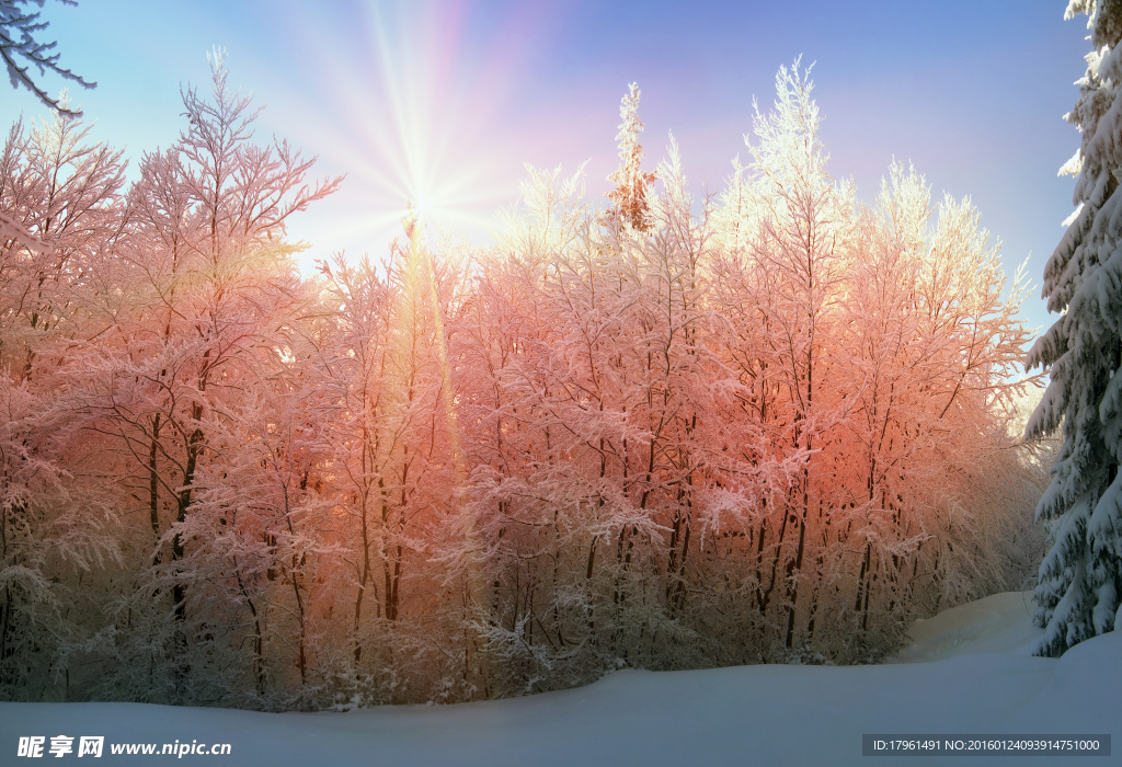
[[[0,765],[43,737],[52,764],[178,761],[112,743],[230,743],[206,765],[1122,765],[1122,631],[1031,657],[1028,594],[947,610],[879,666],[624,671],[578,690],[450,706],[267,714],[130,703],[0,703]],[[862,734],[1113,737],[1111,756],[863,756]],[[54,758],[52,738],[74,738]],[[103,736],[101,758],[76,756]],[[25,741],[27,742],[27,741]]]

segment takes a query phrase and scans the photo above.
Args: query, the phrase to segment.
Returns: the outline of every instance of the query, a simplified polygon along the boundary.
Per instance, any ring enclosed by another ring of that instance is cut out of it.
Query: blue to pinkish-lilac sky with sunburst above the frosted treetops
[[[485,241],[517,197],[524,164],[576,170],[590,197],[616,164],[618,105],[643,90],[653,167],[673,130],[696,193],[719,192],[773,99],[780,65],[817,62],[822,138],[836,177],[871,198],[889,163],[912,161],[936,195],[971,195],[1039,284],[1072,210],[1056,170],[1078,146],[1063,114],[1084,71],[1085,17],[1063,0],[808,0],[673,3],[463,0],[83,0],[48,3],[63,64],[96,90],[73,94],[96,136],[132,158],[183,127],[181,83],[208,86],[205,53],[228,50],[230,82],[267,104],[259,133],[318,155],[341,192],[293,227],[305,261],[385,252],[408,197],[438,225]],[[52,89],[57,82],[47,83]],[[42,110],[0,92],[0,120]],[[1033,293],[1024,315],[1049,322]]]

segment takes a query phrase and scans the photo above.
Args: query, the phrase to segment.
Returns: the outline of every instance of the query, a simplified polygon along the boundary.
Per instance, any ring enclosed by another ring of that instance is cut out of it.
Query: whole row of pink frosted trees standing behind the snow
[[[1020,588],[1023,286],[968,200],[833,178],[808,72],[748,163],[604,204],[531,170],[485,248],[406,215],[295,268],[338,179],[227,82],[134,158],[0,154],[0,697],[454,702],[619,667],[863,663]],[[376,251],[377,252],[377,251]]]

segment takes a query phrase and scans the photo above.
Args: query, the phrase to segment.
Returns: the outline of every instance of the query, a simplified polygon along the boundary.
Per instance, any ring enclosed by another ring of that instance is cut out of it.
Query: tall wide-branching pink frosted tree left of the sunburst
[[[141,161],[126,234],[96,264],[95,274],[117,270],[117,290],[131,298],[107,332],[66,358],[73,413],[99,435],[80,453],[117,478],[132,499],[123,502],[137,505],[130,518],[142,521],[130,540],[146,545],[134,556],[136,601],[116,612],[130,630],[114,652],[134,666],[146,647],[163,648],[148,678],[128,683],[154,700],[222,700],[234,664],[263,690],[276,653],[261,644],[266,594],[254,579],[279,573],[280,560],[292,572],[293,546],[300,558],[307,548],[284,543],[295,540],[287,525],[306,507],[298,472],[280,458],[296,450],[278,436],[295,416],[276,412],[291,399],[285,360],[305,312],[285,227],[334,183],[309,183],[312,161],[286,142],[256,142],[257,111],[226,85],[221,56],[212,65],[210,98],[185,90],[187,127]],[[247,466],[257,466],[254,481]],[[242,503],[239,487],[256,488],[260,502]],[[233,545],[245,551],[230,554]],[[276,561],[257,566],[268,557]],[[286,639],[300,658],[306,621],[297,597],[306,591],[282,592],[297,613]],[[236,628],[224,636],[214,625]]]

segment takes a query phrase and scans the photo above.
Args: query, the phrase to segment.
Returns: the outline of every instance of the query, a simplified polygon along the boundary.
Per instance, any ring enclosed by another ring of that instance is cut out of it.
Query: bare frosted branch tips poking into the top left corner
[[[61,0],[67,6],[76,6],[75,0]],[[52,99],[36,78],[33,67],[39,75],[53,72],[64,80],[77,83],[82,87],[94,87],[96,83],[83,80],[80,75],[58,64],[55,43],[43,43],[37,39],[47,28],[47,22],[39,18],[38,11],[28,10],[28,6],[37,3],[43,7],[44,0],[0,0],[0,58],[8,70],[12,87],[26,87],[39,101],[66,117],[79,117],[81,110],[72,110],[58,99]],[[20,65],[22,63],[22,66]],[[0,220],[0,225],[3,225]]]

